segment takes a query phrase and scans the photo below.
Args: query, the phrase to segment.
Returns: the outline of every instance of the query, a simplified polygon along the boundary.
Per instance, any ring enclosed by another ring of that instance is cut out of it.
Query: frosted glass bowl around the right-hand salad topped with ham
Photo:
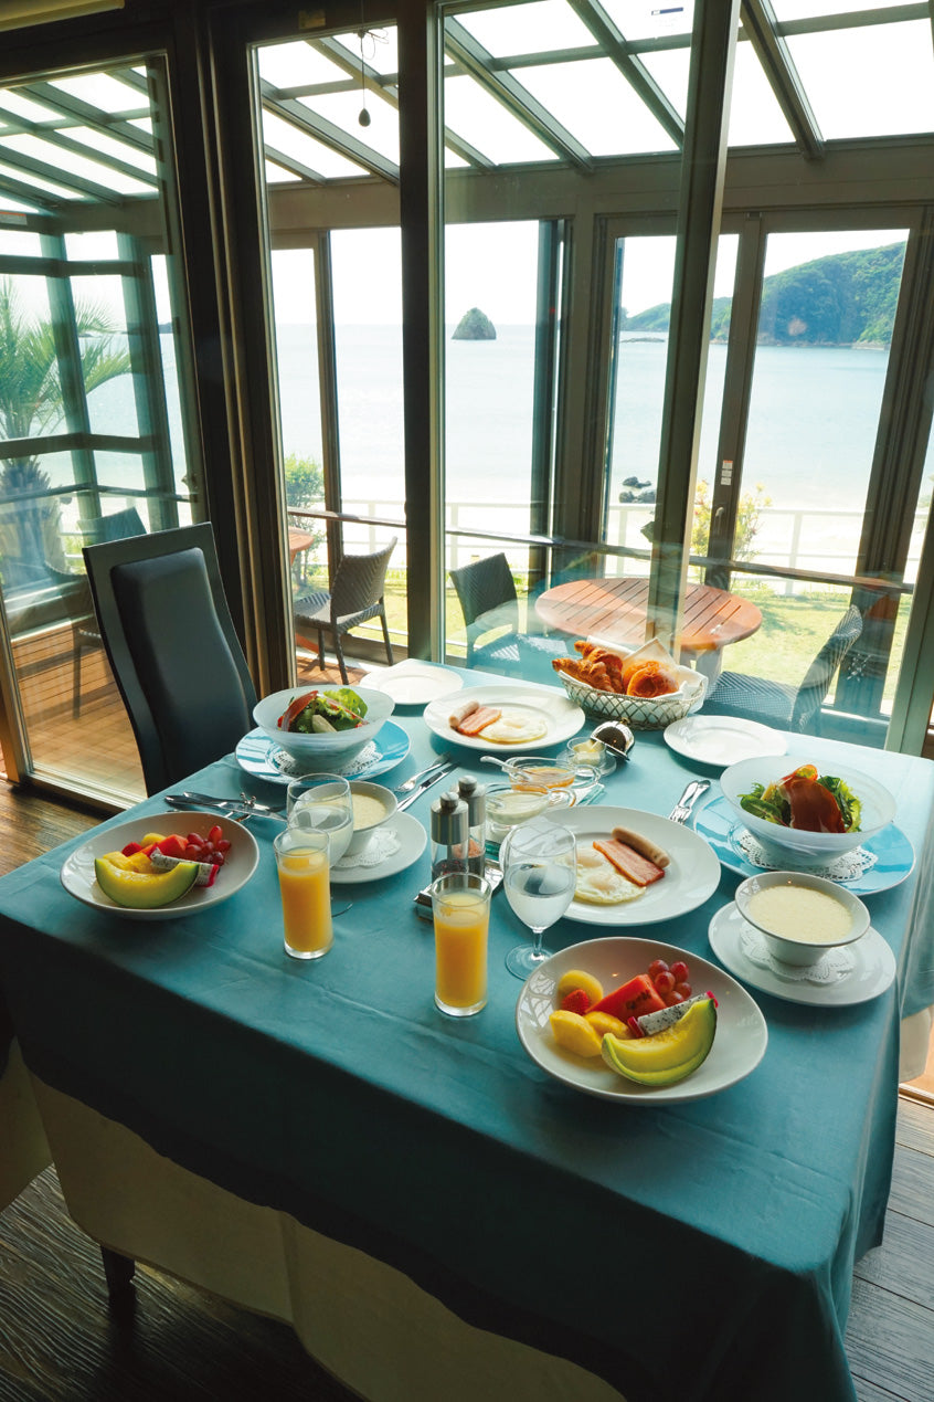
[[[821,778],[842,781],[860,805],[858,826],[844,833],[808,831],[770,822],[744,808],[742,798],[777,784],[802,765],[814,764],[809,754],[758,756],[728,765],[720,775],[724,798],[739,822],[752,833],[770,861],[781,866],[826,866],[870,841],[895,817],[895,799],[882,784],[849,764],[819,764]]]

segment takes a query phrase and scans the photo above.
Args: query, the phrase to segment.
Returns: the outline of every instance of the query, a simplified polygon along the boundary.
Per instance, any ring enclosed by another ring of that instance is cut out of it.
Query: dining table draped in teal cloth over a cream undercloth
[[[507,701],[515,684],[501,680]],[[557,709],[563,693],[543,690]],[[501,780],[420,705],[392,723],[407,753],[378,782],[454,760],[409,809],[423,827],[458,777]],[[577,733],[591,728],[581,714]],[[529,937],[501,892],[487,1004],[441,1014],[414,904],[430,843],[403,869],[333,885],[351,904],[314,962],[283,952],[274,816],[246,823],[252,879],[190,917],[134,921],[76,900],[60,871],[87,834],[6,875],[7,1035],[70,1213],[108,1248],[291,1321],[372,1402],[854,1402],[844,1332],[854,1263],[882,1239],[900,1029],[934,1004],[934,764],[787,743],[790,758],[846,764],[895,796],[912,855],[864,897],[895,977],[843,1005],[749,984],[765,1056],[696,1099],[602,1099],[527,1054],[504,958]],[[718,802],[720,773],[640,732],[591,806],[667,816],[697,777]],[[284,802],[235,756],[179,788]],[[165,815],[155,794],[102,831]],[[580,946],[585,969],[590,939],[639,937],[718,966],[710,930],[739,879],[724,851],[695,908],[651,924],[564,917],[548,946]]]

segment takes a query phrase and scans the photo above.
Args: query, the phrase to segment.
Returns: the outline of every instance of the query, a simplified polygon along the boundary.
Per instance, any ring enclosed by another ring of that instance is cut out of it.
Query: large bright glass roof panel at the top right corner
[[[788,35],[787,43],[828,140],[934,130],[930,21]]]

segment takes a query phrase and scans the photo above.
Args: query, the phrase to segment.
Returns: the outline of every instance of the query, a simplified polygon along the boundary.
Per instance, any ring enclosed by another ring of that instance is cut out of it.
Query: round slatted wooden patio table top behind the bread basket
[[[646,641],[648,579],[611,575],[564,580],[539,594],[535,613],[552,631],[637,648]],[[716,663],[728,644],[752,637],[760,627],[762,611],[748,599],[713,585],[689,583],[678,644],[685,660]]]

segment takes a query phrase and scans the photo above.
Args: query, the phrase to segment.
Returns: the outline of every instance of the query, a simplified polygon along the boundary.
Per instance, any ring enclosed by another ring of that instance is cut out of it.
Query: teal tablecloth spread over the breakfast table
[[[419,711],[395,719],[412,753],[388,782],[441,747]],[[878,774],[920,852],[934,765],[826,740],[807,751]],[[476,751],[458,758],[493,774]],[[700,770],[643,735],[605,802],[667,813]],[[190,787],[234,794],[244,778],[227,760]],[[428,801],[410,812],[427,820]],[[392,1262],[465,1318],[583,1361],[630,1402],[851,1402],[843,1332],[854,1260],[882,1232],[899,1014],[934,1002],[930,911],[920,924],[913,908],[926,883],[868,897],[899,958],[889,993],[818,1009],[753,991],[769,1023],[758,1070],[650,1109],[578,1095],[527,1059],[503,967],[524,930],[501,896],[489,1005],[454,1022],[433,1007],[431,931],[412,908],[427,851],[353,887],[333,951],[300,965],[281,951],[276,826],[253,831],[252,882],[192,920],[74,901],[57,872],[77,843],[0,880],[0,986],[35,1073],[216,1183]],[[707,925],[737,879],[724,871],[700,910],[632,932],[713,958]],[[566,920],[549,942],[605,932]]]

